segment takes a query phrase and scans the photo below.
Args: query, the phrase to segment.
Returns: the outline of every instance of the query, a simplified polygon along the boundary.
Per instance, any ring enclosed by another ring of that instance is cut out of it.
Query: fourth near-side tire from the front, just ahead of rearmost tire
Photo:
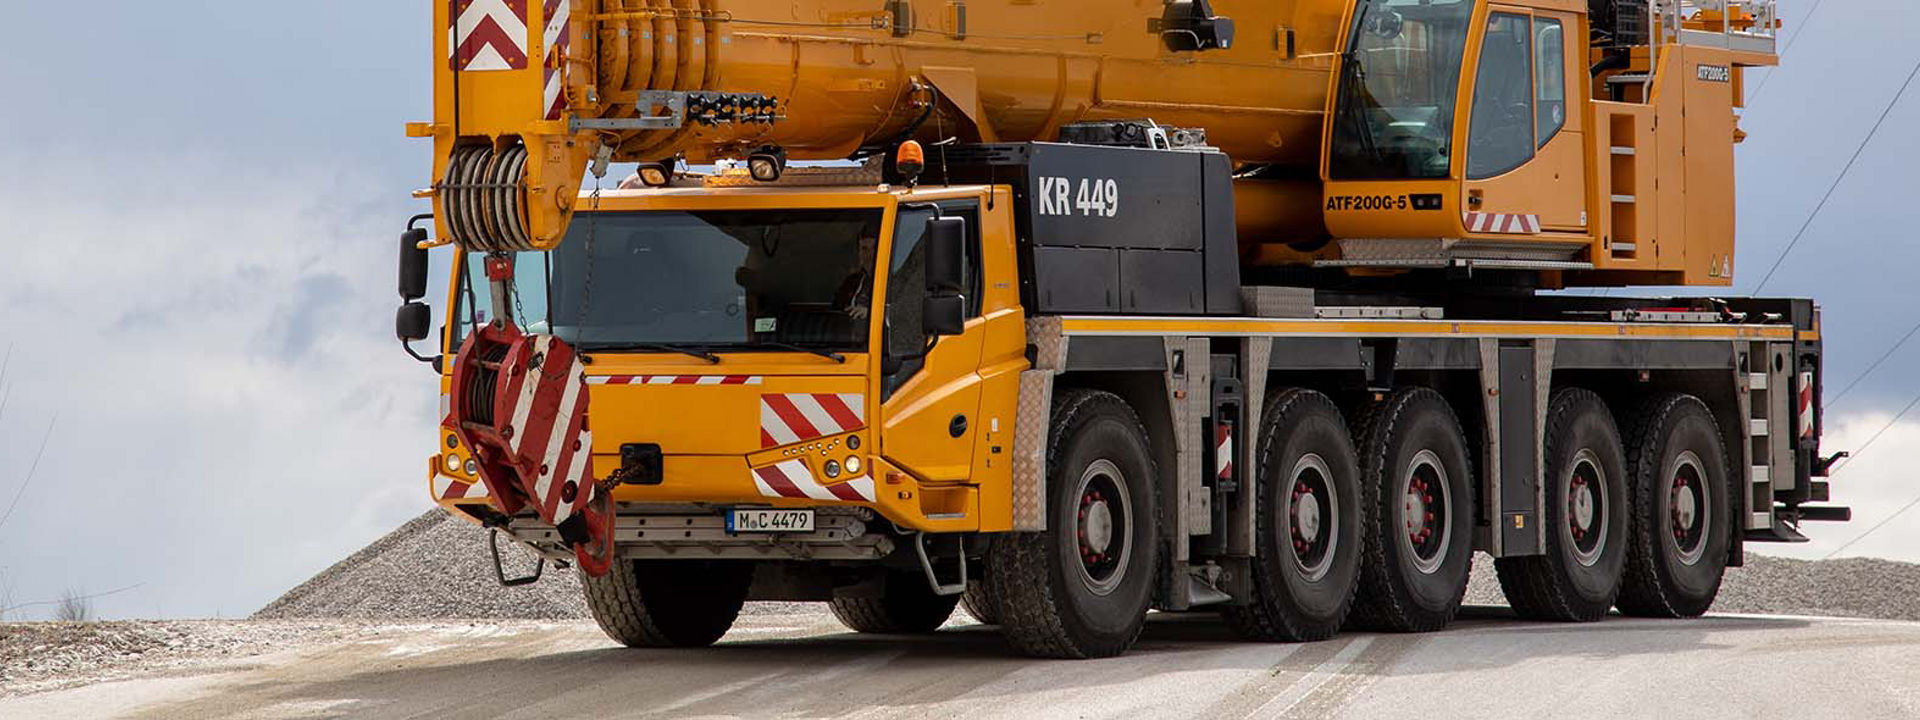
[[[1528,620],[1599,620],[1620,593],[1632,482],[1607,403],[1588,390],[1555,392],[1544,457],[1546,553],[1494,561],[1500,588]]]

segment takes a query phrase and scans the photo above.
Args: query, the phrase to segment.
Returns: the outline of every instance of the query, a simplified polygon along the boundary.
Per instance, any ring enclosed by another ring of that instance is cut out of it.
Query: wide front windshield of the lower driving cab
[[[879,221],[879,209],[582,213],[559,250],[516,255],[515,315],[586,349],[864,351]],[[478,255],[465,284],[455,342],[488,321]]]

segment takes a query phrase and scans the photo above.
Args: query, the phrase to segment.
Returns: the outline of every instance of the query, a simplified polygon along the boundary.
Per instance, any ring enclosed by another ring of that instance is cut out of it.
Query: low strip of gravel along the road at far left
[[[8,622],[0,624],[0,697],[184,670],[361,632],[342,622]]]

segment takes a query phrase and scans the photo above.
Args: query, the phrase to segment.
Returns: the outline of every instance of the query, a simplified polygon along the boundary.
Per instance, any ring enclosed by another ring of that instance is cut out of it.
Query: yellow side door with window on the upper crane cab
[[[1580,17],[1492,6],[1473,69],[1461,207],[1500,219],[1538,217],[1538,230],[1586,232],[1584,46]],[[1576,94],[1569,94],[1569,88]],[[1473,217],[1473,215],[1469,215]],[[1530,234],[1496,221],[1469,232]]]

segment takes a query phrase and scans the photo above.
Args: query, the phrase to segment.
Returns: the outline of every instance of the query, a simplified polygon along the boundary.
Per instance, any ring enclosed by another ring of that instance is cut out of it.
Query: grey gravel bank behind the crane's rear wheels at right
[[[1507,605],[1494,559],[1473,559],[1467,605]],[[1920,564],[1876,559],[1793,561],[1747,553],[1726,568],[1715,612],[1920,620]]]

